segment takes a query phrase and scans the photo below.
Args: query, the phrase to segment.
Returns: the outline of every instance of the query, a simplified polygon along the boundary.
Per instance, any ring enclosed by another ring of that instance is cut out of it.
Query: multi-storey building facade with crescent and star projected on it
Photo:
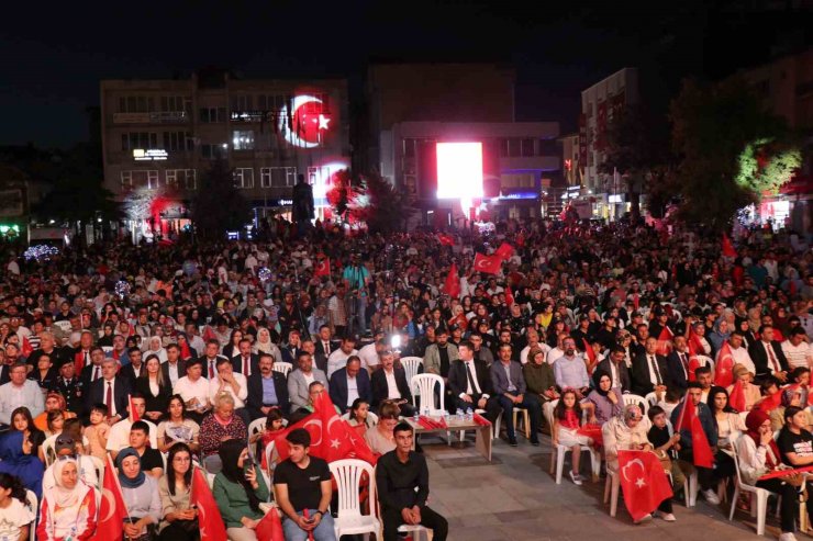
[[[166,202],[159,216],[131,216],[134,233],[182,226],[213,160],[227,160],[258,217],[290,205],[298,174],[313,185],[323,216],[330,177],[349,167],[343,79],[244,80],[216,71],[104,80],[101,115],[105,188],[120,201],[160,194]]]

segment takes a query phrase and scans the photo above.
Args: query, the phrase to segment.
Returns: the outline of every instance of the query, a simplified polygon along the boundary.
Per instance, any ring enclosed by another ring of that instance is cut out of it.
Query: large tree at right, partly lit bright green
[[[776,191],[799,167],[784,121],[742,80],[683,81],[670,119],[680,215],[688,222],[724,230],[739,208]]]

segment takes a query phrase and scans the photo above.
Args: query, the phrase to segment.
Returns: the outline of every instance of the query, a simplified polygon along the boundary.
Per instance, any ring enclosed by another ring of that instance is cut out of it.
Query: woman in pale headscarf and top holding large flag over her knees
[[[604,424],[601,432],[604,438],[604,455],[606,470],[610,473],[619,472],[619,451],[653,451],[653,444],[647,437],[647,426],[642,422],[644,415],[637,404],[627,404],[610,421]],[[667,522],[675,522],[671,496],[658,506],[658,516]],[[639,520],[635,523],[641,522]]]

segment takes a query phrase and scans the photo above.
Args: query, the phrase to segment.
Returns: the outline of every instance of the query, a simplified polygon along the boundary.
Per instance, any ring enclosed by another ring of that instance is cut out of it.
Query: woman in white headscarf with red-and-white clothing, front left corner
[[[56,485],[45,491],[40,505],[36,539],[87,541],[96,534],[96,491],[79,481],[79,469],[69,457],[54,463]]]

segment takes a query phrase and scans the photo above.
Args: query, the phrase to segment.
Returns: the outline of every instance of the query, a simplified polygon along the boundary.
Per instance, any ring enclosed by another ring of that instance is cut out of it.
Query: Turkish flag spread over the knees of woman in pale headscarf
[[[655,453],[648,451],[619,451],[619,481],[624,492],[624,505],[641,520],[672,496],[664,466]]]

